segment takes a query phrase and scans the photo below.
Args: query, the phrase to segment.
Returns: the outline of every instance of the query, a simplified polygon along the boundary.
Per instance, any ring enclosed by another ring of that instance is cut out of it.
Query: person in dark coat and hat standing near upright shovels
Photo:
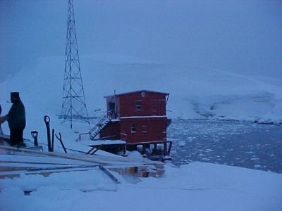
[[[23,130],[26,124],[25,106],[23,106],[18,92],[11,92],[11,103],[13,105],[8,114],[0,118],[0,123],[8,121],[11,146],[25,146],[25,143],[23,143]]]

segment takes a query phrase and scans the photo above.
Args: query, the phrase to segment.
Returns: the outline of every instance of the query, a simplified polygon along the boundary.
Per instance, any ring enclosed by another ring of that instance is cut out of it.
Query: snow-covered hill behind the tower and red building
[[[235,75],[117,55],[80,58],[87,109],[105,110],[104,96],[149,89],[170,93],[168,116],[282,122],[282,79]],[[39,58],[1,82],[0,102],[8,111],[10,91],[20,91],[32,113],[61,113],[64,58]]]

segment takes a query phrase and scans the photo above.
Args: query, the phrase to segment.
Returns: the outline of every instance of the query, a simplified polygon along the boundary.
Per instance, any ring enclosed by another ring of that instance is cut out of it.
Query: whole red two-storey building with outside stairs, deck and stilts
[[[168,96],[168,93],[147,90],[105,96],[106,115],[85,134],[90,134],[92,140],[99,135],[99,139],[123,141],[92,144],[88,153],[93,154],[98,149],[117,152],[122,147],[125,154],[126,148],[135,150],[142,146],[144,154],[146,148],[154,145],[152,155],[169,155],[172,143],[166,140],[166,128],[170,123],[166,117]],[[164,147],[158,148],[158,145]]]

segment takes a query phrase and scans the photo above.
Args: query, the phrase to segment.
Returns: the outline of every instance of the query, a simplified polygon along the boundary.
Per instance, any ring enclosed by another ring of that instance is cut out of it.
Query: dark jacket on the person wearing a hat
[[[8,126],[10,129],[25,128],[25,106],[20,99],[13,103],[8,112]]]

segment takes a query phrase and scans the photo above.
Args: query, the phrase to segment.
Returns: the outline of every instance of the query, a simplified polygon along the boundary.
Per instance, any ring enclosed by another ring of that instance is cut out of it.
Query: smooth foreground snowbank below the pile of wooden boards
[[[180,168],[166,165],[166,176],[159,179],[116,177],[121,184],[94,170],[0,180],[0,210],[275,211],[282,207],[282,175],[271,172],[194,162]],[[24,188],[35,191],[25,196]]]

